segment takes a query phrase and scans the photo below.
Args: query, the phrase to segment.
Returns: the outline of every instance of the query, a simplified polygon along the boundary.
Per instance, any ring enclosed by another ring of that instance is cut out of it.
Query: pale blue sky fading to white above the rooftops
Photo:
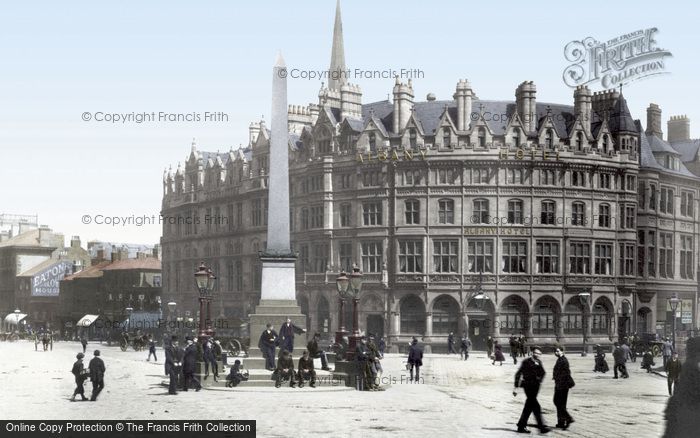
[[[14,2],[0,14],[0,212],[87,239],[152,243],[160,227],[81,224],[84,214],[154,215],[163,169],[189,152],[247,141],[269,119],[271,67],[324,69],[335,1]],[[700,9],[694,2],[342,3],[348,67],[419,68],[416,98],[451,98],[468,78],[484,99],[513,99],[524,80],[539,101],[570,103],[564,46],[657,27],[673,53],[670,75],[625,88],[635,118],[658,103],[665,120],[687,114],[700,134],[696,78]],[[393,81],[358,81],[364,102]],[[289,80],[289,103],[317,100],[320,81]],[[89,112],[223,111],[228,123],[84,122]]]

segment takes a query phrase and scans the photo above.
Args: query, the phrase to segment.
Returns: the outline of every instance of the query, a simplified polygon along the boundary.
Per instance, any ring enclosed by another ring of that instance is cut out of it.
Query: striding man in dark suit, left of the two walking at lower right
[[[522,387],[527,397],[525,406],[523,406],[523,413],[520,415],[520,420],[518,420],[518,433],[530,433],[527,429],[527,420],[530,418],[530,414],[535,414],[540,433],[549,432],[549,428],[542,421],[542,408],[537,401],[537,393],[540,391],[540,384],[545,375],[542,361],[540,361],[541,354],[542,351],[538,347],[533,348],[532,356],[523,360],[520,363],[520,369],[515,373],[516,389],[513,390],[513,396],[518,394],[517,388]]]

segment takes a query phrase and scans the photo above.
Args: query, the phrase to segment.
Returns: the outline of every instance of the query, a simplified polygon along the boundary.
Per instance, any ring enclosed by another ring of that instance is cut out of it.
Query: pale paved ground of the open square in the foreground
[[[88,345],[90,359],[95,344]],[[107,366],[106,388],[96,403],[68,399],[78,343],[59,342],[53,352],[35,352],[30,342],[0,343],[0,412],[6,419],[256,419],[259,437],[327,436],[503,437],[519,436],[515,423],[525,396],[513,397],[516,366],[493,366],[485,353],[468,361],[455,355],[426,355],[421,384],[407,383],[405,359],[384,361],[383,392],[330,391],[282,387],[260,391],[189,391],[167,395],[164,359],[146,362],[147,352],[100,346]],[[630,378],[594,374],[593,357],[569,357],[576,387],[569,411],[577,420],[550,436],[658,437],[663,432],[666,381],[629,364]],[[556,423],[551,370],[555,357],[543,357],[547,380],[540,393],[545,421]],[[87,363],[87,360],[86,360]],[[89,396],[90,383],[86,384]],[[285,414],[286,412],[286,414]],[[534,419],[532,419],[534,421]],[[532,428],[534,435],[536,429]]]

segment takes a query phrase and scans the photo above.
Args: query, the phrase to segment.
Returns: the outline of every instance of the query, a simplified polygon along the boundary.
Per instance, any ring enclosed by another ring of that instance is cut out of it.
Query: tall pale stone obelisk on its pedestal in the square
[[[260,304],[250,315],[251,358],[262,357],[258,338],[270,323],[279,330],[287,317],[299,327],[306,317],[296,301],[294,266],[289,238],[289,128],[287,126],[287,74],[282,55],[272,68],[272,131],[270,133],[270,171],[268,173],[267,248],[260,253],[262,284]],[[305,337],[297,335],[295,355],[306,346]],[[297,351],[298,350],[298,351]],[[247,359],[250,368],[250,359]],[[257,364],[256,364],[257,365]],[[260,367],[263,368],[263,367]]]

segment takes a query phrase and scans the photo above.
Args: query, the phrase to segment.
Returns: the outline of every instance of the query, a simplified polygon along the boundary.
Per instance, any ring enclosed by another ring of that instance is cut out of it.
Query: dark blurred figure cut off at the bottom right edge
[[[700,338],[689,338],[679,385],[666,405],[664,438],[695,438],[700,430]]]

